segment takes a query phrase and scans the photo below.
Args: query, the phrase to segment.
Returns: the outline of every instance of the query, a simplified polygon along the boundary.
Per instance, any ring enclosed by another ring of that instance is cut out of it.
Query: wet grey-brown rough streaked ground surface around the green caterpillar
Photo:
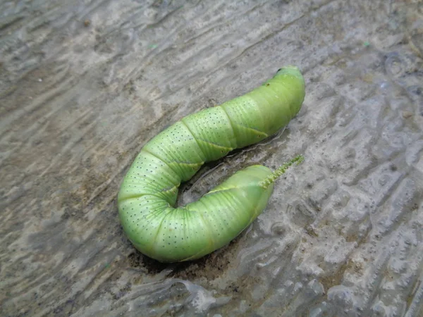
[[[422,1],[236,3],[1,1],[1,316],[423,316]],[[266,211],[194,263],[135,251],[142,145],[286,64],[299,116],[180,197],[305,154]]]

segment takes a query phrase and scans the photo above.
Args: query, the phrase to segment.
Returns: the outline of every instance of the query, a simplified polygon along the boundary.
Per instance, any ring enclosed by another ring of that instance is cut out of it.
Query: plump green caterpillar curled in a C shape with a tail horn
[[[300,157],[274,173],[264,166],[247,167],[199,201],[173,208],[178,186],[205,162],[286,126],[304,97],[300,71],[287,66],[252,92],[186,116],[147,142],[118,194],[129,240],[161,262],[198,259],[233,240],[266,208],[274,180]]]

